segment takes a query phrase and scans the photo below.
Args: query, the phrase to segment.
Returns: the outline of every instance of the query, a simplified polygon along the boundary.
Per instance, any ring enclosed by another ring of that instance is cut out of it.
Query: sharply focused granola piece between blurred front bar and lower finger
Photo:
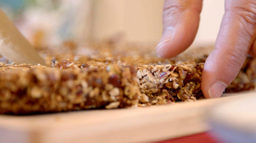
[[[201,98],[201,76],[204,63],[137,66],[136,81],[148,100],[140,104],[163,105]]]

